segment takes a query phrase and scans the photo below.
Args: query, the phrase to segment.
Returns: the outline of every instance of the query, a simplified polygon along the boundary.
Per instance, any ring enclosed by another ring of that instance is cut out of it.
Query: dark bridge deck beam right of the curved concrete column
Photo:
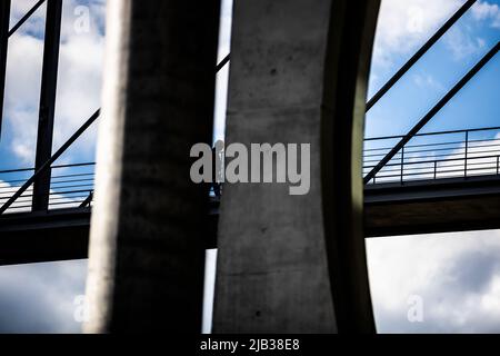
[[[500,177],[377,185],[364,194],[368,237],[500,228]]]

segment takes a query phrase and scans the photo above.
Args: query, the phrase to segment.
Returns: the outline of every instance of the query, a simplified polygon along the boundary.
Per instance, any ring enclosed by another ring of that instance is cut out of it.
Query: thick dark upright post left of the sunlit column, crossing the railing
[[[62,0],[48,0],[37,136],[37,157],[34,164],[37,171],[52,156],[61,18]],[[34,180],[32,202],[33,211],[48,210],[49,208],[51,175],[52,171],[49,168]]]

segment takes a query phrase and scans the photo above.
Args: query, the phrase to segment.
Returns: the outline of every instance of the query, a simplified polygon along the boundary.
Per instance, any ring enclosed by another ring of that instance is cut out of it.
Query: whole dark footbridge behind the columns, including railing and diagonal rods
[[[39,1],[11,29],[10,1],[1,13],[0,89],[9,37],[43,3]],[[367,102],[369,111],[408,70],[470,9],[467,1]],[[36,167],[0,167],[0,264],[87,256],[94,189],[94,162],[58,164],[60,157],[98,120],[97,110],[52,154],[53,108],[60,42],[61,4],[49,2]],[[500,128],[426,132],[424,126],[499,51],[497,43],[404,136],[364,140],[364,229],[367,237],[500,228]],[[230,63],[227,56],[216,68]],[[0,92],[0,98],[3,98]],[[1,103],[1,102],[0,102]],[[1,122],[0,122],[1,125]],[[360,157],[361,159],[361,157]],[[207,214],[207,248],[217,246],[220,197]]]

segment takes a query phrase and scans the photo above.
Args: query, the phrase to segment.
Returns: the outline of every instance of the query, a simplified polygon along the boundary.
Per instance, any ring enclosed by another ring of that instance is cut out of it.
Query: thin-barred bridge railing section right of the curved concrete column
[[[367,176],[402,136],[370,138],[363,151]],[[417,135],[370,180],[387,184],[499,176],[500,127]]]

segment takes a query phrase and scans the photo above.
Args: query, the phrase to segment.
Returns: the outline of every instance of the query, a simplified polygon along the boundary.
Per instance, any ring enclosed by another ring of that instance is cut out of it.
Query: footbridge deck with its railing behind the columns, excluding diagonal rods
[[[364,175],[402,138],[366,139]],[[0,171],[0,264],[87,257],[96,164],[46,169],[44,210],[33,208],[41,171]],[[500,228],[499,198],[500,127],[420,134],[366,184],[367,237]],[[212,194],[207,248],[217,247],[219,200]]]

